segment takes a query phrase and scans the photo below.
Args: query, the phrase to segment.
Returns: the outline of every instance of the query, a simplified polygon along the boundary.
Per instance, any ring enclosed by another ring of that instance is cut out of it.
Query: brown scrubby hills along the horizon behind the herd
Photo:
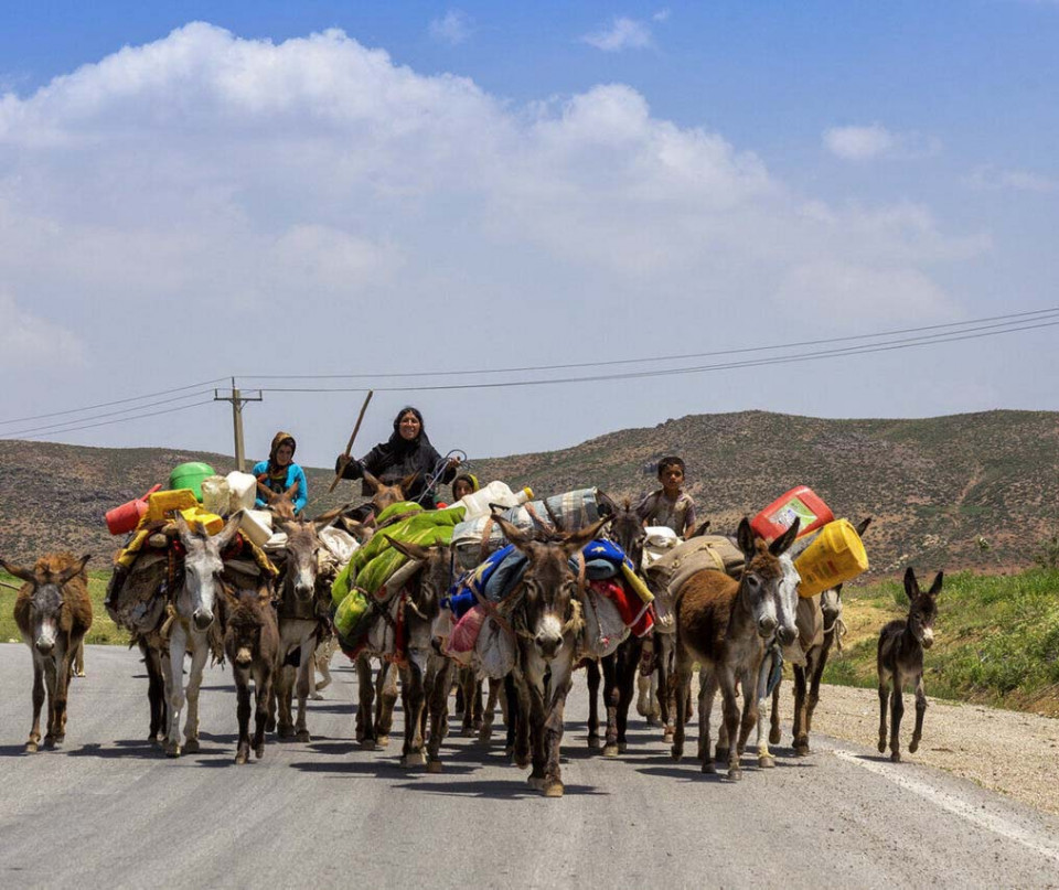
[[[471,469],[483,481],[532,485],[538,494],[598,485],[635,497],[656,487],[651,468],[668,453],[686,461],[687,490],[716,529],[732,529],[741,515],[796,484],[810,485],[838,516],[874,516],[865,538],[874,573],[909,562],[1028,566],[1037,544],[1059,529],[1059,414],[1052,411],[922,420],[689,415],[559,451],[473,459]],[[164,483],[189,460],[221,472],[234,467],[232,458],[202,452],[0,440],[0,555],[29,560],[64,547],[92,551],[92,566],[107,566],[120,539],[107,534],[104,513]],[[361,500],[359,485],[347,482],[328,496],[328,469],[307,473],[311,513]]]

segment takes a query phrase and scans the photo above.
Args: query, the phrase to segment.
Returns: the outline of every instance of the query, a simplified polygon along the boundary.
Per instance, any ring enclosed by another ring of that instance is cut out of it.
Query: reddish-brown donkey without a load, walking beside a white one
[[[744,517],[736,539],[746,562],[740,580],[721,571],[696,572],[676,594],[676,726],[673,759],[684,753],[684,715],[692,665],[702,667],[698,750],[703,772],[715,772],[709,755],[709,716],[718,686],[724,699],[725,731],[729,742],[728,778],[742,778],[739,755],[758,718],[758,675],[764,641],[777,632],[775,597],[783,578],[780,555],[794,541],[799,523],[767,545],[757,538]],[[793,640],[793,634],[791,635]],[[739,719],[736,685],[742,684],[744,711]],[[738,734],[737,734],[738,730]]]

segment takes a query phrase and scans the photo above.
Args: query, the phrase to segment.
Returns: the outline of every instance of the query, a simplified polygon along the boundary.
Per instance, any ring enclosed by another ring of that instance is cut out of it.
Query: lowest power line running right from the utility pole
[[[1037,321],[1031,319],[1027,321]],[[375,392],[382,393],[426,393],[439,390],[458,389],[503,389],[527,386],[549,386],[573,383],[600,383],[605,380],[628,380],[642,379],[646,377],[666,377],[680,374],[700,374],[712,371],[730,371],[742,367],[762,367],[768,365],[791,364],[796,362],[810,362],[821,358],[835,358],[848,355],[867,355],[876,352],[891,352],[894,350],[907,350],[919,346],[929,346],[941,343],[955,343],[963,340],[980,340],[987,336],[997,336],[999,334],[1017,333],[1019,331],[1031,331],[1039,328],[1052,328],[1059,325],[1059,319],[1042,321],[1036,324],[1023,324],[1021,326],[1004,326],[1002,330],[987,330],[986,328],[975,329],[974,331],[948,331],[940,334],[929,334],[922,337],[910,337],[906,340],[891,341],[888,343],[866,343],[858,346],[846,346],[837,350],[827,350],[823,352],[795,353],[793,355],[775,355],[767,358],[749,358],[741,362],[725,362],[712,365],[697,365],[689,367],[661,368],[653,371],[634,371],[623,374],[595,374],[580,377],[547,377],[530,380],[491,380],[486,383],[463,383],[463,384],[437,384],[426,386],[374,386]],[[1001,325],[988,325],[998,328]],[[364,387],[268,387],[263,393],[364,393]]]

